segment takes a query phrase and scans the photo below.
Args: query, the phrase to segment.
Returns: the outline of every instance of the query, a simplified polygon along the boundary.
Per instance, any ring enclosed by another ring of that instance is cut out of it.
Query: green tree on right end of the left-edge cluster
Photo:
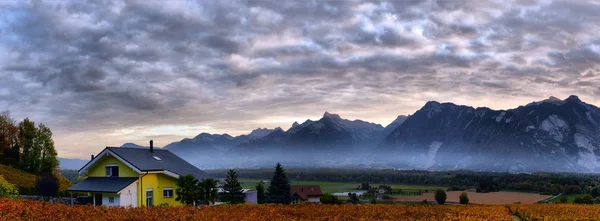
[[[50,128],[39,124],[36,141],[42,148],[39,171],[42,173],[52,173],[58,167],[58,159],[56,159],[57,154],[54,149],[54,141],[52,140],[52,131],[50,131]]]

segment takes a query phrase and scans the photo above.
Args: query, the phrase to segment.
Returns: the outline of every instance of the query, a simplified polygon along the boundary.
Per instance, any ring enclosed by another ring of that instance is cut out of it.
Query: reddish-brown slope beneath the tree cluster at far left
[[[35,194],[35,182],[38,176],[5,165],[0,165],[0,175],[9,183],[15,184],[19,188],[19,194]],[[71,185],[71,181],[65,177],[59,177],[59,192],[65,192]]]

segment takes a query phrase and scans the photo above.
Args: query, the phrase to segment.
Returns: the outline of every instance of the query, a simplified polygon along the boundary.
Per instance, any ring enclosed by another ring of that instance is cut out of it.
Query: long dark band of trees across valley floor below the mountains
[[[266,179],[271,174],[264,170],[240,170],[240,177]],[[216,172],[221,173],[219,171]],[[289,170],[288,176],[296,180],[329,182],[404,183],[448,186],[456,190],[478,189],[479,192],[517,190],[543,194],[559,194],[573,187],[589,193],[600,184],[600,174],[574,173],[502,173],[473,171],[420,171],[420,170],[340,170],[302,169]],[[363,188],[362,185],[360,188]]]

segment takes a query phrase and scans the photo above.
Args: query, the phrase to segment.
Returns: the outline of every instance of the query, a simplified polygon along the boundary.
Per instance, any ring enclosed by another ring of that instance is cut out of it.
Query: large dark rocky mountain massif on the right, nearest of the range
[[[600,168],[599,113],[576,96],[506,111],[428,102],[380,151],[409,168],[592,172]]]

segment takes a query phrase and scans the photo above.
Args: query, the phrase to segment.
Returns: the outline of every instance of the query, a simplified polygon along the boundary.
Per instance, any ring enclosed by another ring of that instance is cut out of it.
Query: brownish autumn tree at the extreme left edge
[[[10,113],[0,114],[0,164],[19,166],[19,127]]]

